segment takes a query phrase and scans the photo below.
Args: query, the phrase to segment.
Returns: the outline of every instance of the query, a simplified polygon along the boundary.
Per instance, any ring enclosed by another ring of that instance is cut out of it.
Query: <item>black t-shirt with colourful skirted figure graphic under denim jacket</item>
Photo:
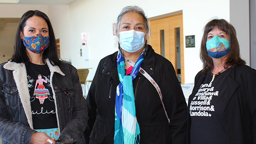
[[[26,66],[34,129],[57,128],[55,102],[50,86],[48,65]]]

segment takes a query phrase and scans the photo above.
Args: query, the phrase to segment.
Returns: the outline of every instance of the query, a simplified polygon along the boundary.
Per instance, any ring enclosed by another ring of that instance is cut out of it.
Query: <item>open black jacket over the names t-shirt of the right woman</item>
[[[247,65],[230,68],[224,100],[224,125],[228,144],[256,144],[256,70]],[[188,99],[188,144],[190,144],[190,103],[206,76],[196,75]]]

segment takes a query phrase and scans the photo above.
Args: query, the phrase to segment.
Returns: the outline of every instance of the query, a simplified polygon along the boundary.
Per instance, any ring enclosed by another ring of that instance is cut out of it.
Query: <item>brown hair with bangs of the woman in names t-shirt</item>
[[[242,66],[246,62],[241,59],[240,49],[238,39],[236,38],[235,28],[224,19],[214,19],[204,26],[204,33],[201,42],[200,58],[203,62],[202,74],[206,75],[209,71],[212,71],[214,68],[213,60],[209,57],[206,49],[207,34],[212,31],[214,28],[219,28],[221,31],[225,32],[229,38],[229,53],[226,55],[226,62],[224,68],[229,66]]]

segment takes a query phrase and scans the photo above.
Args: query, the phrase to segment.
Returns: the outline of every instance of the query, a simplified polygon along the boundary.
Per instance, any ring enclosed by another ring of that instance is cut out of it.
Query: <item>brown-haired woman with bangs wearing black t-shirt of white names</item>
[[[203,62],[188,100],[188,144],[256,143],[256,70],[240,57],[235,28],[223,19],[204,27]]]

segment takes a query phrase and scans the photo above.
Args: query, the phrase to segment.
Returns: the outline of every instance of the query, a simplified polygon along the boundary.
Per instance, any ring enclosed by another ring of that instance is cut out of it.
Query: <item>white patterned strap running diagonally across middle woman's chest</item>
[[[134,66],[134,64],[135,64],[132,60],[128,59],[128,58],[125,57],[125,56],[124,56],[124,60],[125,60],[129,65],[131,65],[131,66]],[[163,102],[163,100],[162,100],[162,92],[161,92],[161,90],[160,90],[158,84],[156,84],[155,80],[154,80],[144,69],[142,69],[141,67],[140,67],[139,72],[142,73],[142,74],[151,82],[151,84],[155,87],[156,91],[158,92],[159,97],[160,97],[160,100],[161,100],[162,105],[163,105],[164,110],[165,110],[165,115],[166,115],[166,117],[167,117],[168,123],[170,124],[170,119],[169,119],[169,117],[168,117],[168,114],[167,114],[167,112],[166,112],[166,108],[165,108],[164,102]]]

